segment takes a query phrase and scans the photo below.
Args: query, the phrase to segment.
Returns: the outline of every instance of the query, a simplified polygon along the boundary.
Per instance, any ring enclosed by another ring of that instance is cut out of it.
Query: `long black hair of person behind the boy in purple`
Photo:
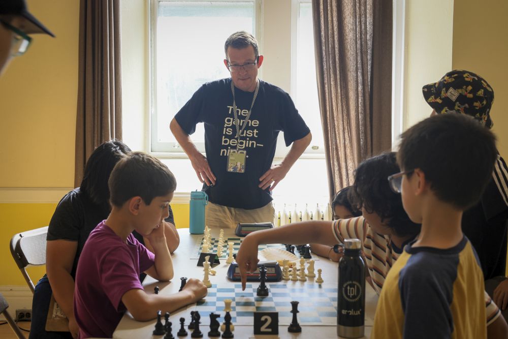
[[[108,179],[116,163],[131,149],[120,140],[110,140],[97,146],[88,158],[80,191],[105,211],[110,210]]]

